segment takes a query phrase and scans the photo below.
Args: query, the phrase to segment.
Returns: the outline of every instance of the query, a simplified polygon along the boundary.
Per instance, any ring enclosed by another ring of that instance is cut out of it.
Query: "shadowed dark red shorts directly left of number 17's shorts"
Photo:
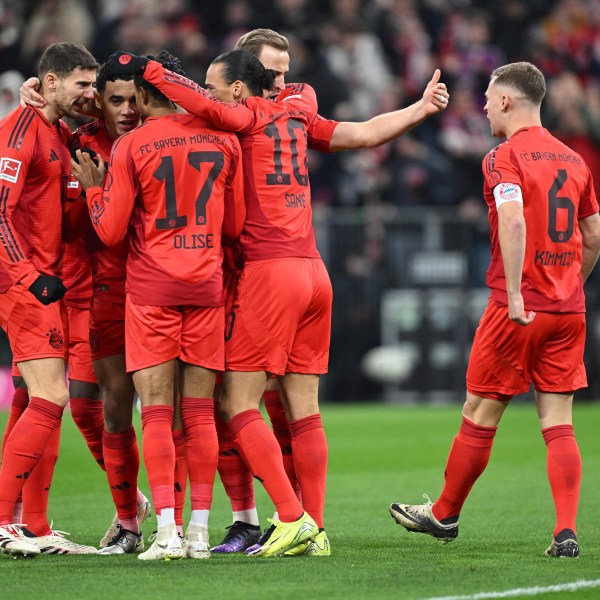
[[[125,354],[125,303],[92,296],[90,347],[92,360]]]

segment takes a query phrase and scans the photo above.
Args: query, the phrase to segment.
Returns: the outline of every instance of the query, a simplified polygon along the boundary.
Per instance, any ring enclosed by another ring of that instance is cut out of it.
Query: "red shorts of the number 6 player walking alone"
[[[479,321],[467,368],[467,390],[508,400],[529,391],[570,393],[587,386],[584,313],[538,312],[523,327],[490,298]]]

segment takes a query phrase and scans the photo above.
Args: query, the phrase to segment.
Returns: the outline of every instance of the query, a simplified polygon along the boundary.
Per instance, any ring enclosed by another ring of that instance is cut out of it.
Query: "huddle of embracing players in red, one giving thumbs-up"
[[[287,39],[257,29],[211,63],[203,88],[166,51],[117,52],[99,66],[84,47],[56,43],[0,123],[0,324],[15,364],[0,551],[331,553],[318,384],[332,289],[311,223],[308,149],[389,142],[449,96],[436,70],[404,109],[330,121],[309,85],[285,84],[289,61]],[[94,113],[74,132],[62,121]],[[136,392],[157,519],[145,551]],[[68,403],[116,507],[100,550],[48,523]],[[211,548],[217,471],[233,519]],[[275,508],[262,535],[254,479]]]

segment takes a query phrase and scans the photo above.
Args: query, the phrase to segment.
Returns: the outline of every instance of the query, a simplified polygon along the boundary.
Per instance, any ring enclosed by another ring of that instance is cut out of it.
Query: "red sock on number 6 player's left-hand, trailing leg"
[[[433,505],[438,521],[460,514],[473,484],[487,467],[497,429],[475,425],[463,417],[448,455],[444,489]]]

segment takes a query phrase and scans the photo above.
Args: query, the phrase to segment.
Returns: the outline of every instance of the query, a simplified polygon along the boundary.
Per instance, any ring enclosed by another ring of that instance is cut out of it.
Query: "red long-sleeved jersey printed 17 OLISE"
[[[146,119],[113,146],[104,191],[88,190],[106,244],[129,226],[127,293],[136,304],[221,306],[221,235],[244,219],[241,149],[193,115]]]

